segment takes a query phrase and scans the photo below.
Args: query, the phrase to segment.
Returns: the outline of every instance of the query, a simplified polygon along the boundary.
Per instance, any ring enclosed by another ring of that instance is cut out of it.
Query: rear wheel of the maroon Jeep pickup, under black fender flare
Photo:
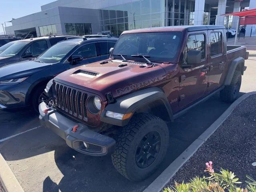
[[[240,71],[235,71],[230,85],[225,86],[220,91],[220,99],[226,102],[234,102],[238,98],[239,90],[242,83],[242,74]]]

